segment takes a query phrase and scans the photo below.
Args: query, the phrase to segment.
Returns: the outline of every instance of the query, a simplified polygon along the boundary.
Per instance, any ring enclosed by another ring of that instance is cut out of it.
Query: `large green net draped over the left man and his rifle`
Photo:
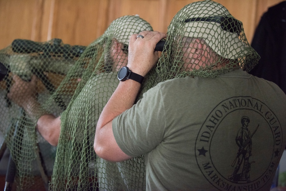
[[[8,104],[1,107],[1,132],[16,164],[17,190],[31,190],[38,184],[32,169],[35,162],[46,165],[39,153],[54,158],[50,190],[145,190],[143,155],[115,163],[98,157],[93,148],[99,115],[119,83],[118,70],[127,64],[129,37],[143,30],[152,31],[147,21],[123,16],[87,47],[69,46],[59,39],[41,43],[17,39],[0,51],[0,62],[10,72],[1,82],[2,105]],[[38,77],[41,112],[35,116],[27,116],[7,100],[11,73],[25,80],[33,74]],[[160,81],[154,68],[144,79],[137,101]],[[61,116],[57,147],[49,146],[35,131],[44,113]]]

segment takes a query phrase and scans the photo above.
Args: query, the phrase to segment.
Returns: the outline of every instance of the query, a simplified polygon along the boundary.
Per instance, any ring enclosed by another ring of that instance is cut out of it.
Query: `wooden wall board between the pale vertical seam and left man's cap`
[[[87,46],[98,37],[105,25],[108,2],[106,0],[55,1],[50,38],[60,38],[63,43]],[[100,30],[101,31],[101,30]]]

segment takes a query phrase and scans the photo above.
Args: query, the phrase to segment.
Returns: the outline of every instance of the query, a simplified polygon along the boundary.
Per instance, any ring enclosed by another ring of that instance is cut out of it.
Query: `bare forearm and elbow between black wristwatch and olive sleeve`
[[[112,133],[112,120],[134,105],[140,85],[140,83],[133,80],[120,82],[104,107],[98,119],[94,137],[94,150],[100,157],[113,162],[131,158],[115,145],[116,141]],[[113,145],[113,149],[109,149],[108,145]]]

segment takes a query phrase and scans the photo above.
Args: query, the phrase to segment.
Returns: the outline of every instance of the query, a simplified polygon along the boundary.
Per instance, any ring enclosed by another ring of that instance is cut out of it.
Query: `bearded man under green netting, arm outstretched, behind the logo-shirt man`
[[[23,82],[14,77],[16,82],[8,96],[30,115],[37,116],[37,130],[49,143],[57,145],[51,190],[145,189],[144,155],[111,163],[98,157],[92,149],[98,117],[118,85],[118,69],[128,62],[130,35],[144,30],[153,29],[139,16],[128,15],[114,20],[100,38],[87,46],[55,93],[41,107],[33,90],[37,79],[33,77],[31,82]],[[75,80],[78,85],[67,108],[59,116],[46,114],[54,100],[70,93],[70,81]],[[153,68],[141,81],[137,100],[160,81]],[[27,86],[24,102],[19,100],[23,94],[19,95],[16,85]],[[40,110],[44,110],[43,113],[35,113]]]

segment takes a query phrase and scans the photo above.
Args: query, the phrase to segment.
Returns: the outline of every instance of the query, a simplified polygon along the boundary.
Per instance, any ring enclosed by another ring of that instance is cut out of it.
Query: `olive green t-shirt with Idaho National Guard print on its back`
[[[276,84],[239,69],[161,82],[112,128],[124,153],[145,154],[146,190],[269,190],[285,108]]]

